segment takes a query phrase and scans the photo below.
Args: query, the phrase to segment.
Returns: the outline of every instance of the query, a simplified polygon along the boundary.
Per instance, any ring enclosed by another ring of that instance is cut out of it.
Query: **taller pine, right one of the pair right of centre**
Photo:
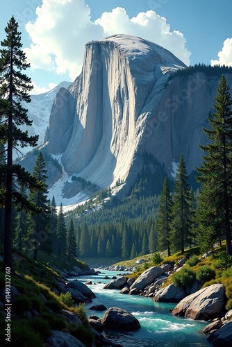
[[[190,189],[188,174],[181,154],[174,182],[172,205],[172,227],[170,232],[171,246],[175,251],[184,252],[191,231]]]

